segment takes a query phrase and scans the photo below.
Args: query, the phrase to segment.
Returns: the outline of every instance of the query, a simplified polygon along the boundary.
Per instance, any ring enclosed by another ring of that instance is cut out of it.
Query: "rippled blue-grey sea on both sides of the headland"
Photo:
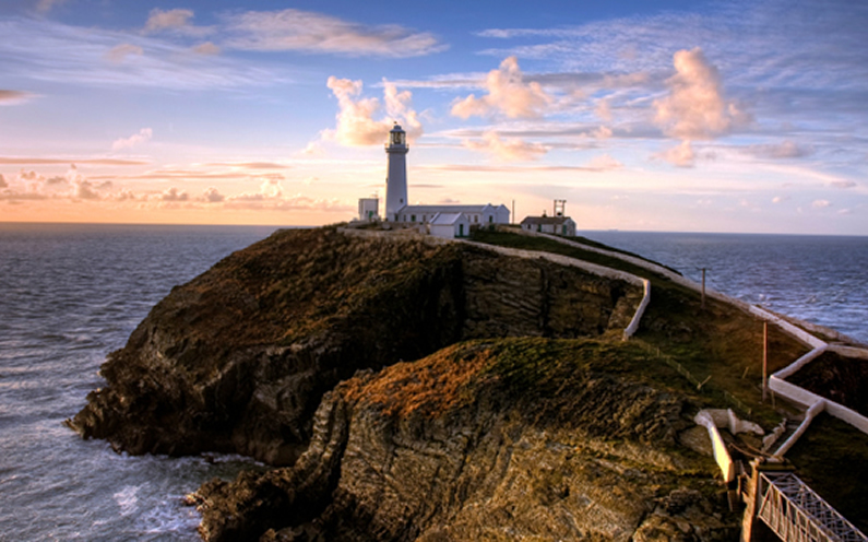
[[[0,540],[198,540],[183,496],[262,468],[131,457],[63,425],[151,307],[275,227],[0,223]],[[581,232],[868,343],[868,237]]]

